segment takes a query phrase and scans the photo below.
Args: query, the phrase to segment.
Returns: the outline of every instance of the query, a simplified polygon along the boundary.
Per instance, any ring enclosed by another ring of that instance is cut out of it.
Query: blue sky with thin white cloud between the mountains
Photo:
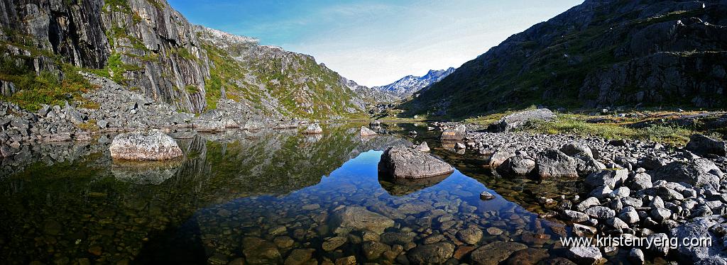
[[[191,23],[310,54],[382,86],[459,67],[583,0],[168,0]]]

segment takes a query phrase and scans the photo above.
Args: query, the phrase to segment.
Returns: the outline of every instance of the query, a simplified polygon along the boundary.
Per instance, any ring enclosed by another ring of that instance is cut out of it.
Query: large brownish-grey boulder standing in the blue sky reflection
[[[407,147],[389,147],[379,161],[379,174],[394,178],[419,179],[452,172],[448,163]]]

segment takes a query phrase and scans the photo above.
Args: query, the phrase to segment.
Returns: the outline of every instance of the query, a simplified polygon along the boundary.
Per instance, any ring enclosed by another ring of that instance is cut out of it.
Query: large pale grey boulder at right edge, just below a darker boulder
[[[696,187],[701,187],[704,184],[719,187],[720,179],[723,176],[724,174],[720,168],[706,158],[696,158],[688,163],[675,161],[651,171],[651,178],[654,180],[684,182]]]

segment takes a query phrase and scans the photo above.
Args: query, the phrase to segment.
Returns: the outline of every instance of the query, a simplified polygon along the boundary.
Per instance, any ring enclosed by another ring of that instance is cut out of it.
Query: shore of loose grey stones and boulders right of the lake
[[[502,121],[498,124],[502,124]],[[436,124],[441,131],[457,126]],[[566,221],[579,237],[656,237],[710,240],[709,246],[632,248],[629,260],[654,257],[684,263],[727,264],[727,158],[725,142],[696,134],[686,147],[638,140],[570,135],[468,131],[467,150],[486,160],[494,174],[534,179],[574,178],[574,197],[539,197],[550,212],[543,218]],[[600,264],[616,246],[569,248],[571,261]]]

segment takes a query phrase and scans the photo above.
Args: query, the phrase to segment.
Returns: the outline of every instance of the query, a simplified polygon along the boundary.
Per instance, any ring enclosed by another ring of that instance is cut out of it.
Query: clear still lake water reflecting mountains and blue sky
[[[569,182],[489,176],[479,158],[453,152],[425,127],[388,126],[393,134],[361,139],[357,126],[327,126],[322,136],[174,134],[183,138],[185,159],[172,163],[113,162],[103,143],[28,150],[24,159],[3,161],[0,258],[9,264],[226,264],[265,251],[276,257],[265,262],[282,262],[294,249],[312,249],[313,261],[356,256],[365,262],[361,232],[334,250],[322,248],[335,236],[330,213],[354,205],[395,220],[386,232],[412,232],[389,245],[457,243],[461,229],[497,227],[501,235],[484,232],[475,245],[513,240],[563,254],[556,242],[566,229],[538,218],[545,209],[537,197],[574,192]],[[401,134],[412,129],[420,132],[415,139]],[[378,178],[383,148],[422,139],[458,171],[427,183]],[[480,200],[482,191],[497,198]],[[371,261],[395,263],[392,257]]]

